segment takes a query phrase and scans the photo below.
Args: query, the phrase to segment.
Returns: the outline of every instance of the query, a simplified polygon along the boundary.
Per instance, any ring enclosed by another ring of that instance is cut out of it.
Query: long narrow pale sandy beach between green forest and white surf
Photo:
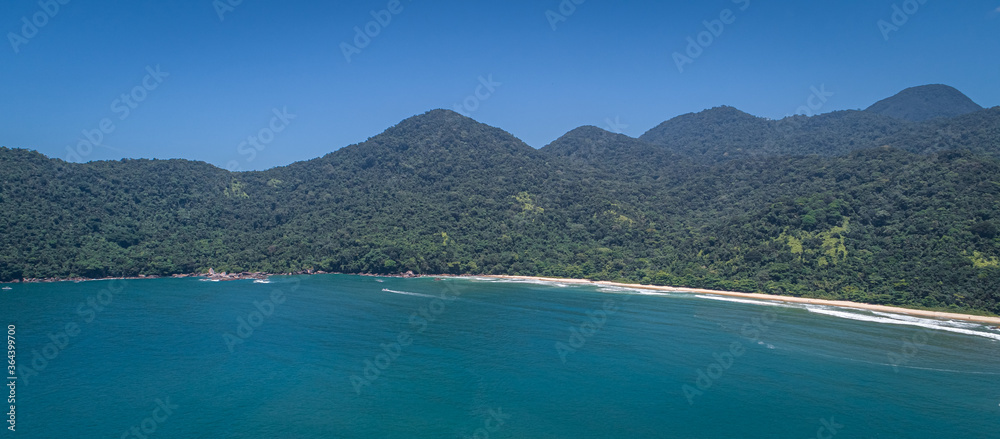
[[[666,291],[674,293],[696,293],[696,294],[713,294],[717,296],[729,296],[729,297],[741,297],[744,299],[755,299],[755,300],[770,300],[777,302],[788,302],[788,303],[807,303],[811,305],[826,305],[826,306],[836,306],[840,308],[854,308],[854,309],[865,309],[869,311],[879,311],[879,312],[889,312],[896,314],[906,314],[917,317],[929,317],[934,319],[943,320],[964,320],[969,322],[983,323],[987,325],[1000,326],[1000,317],[985,317],[985,316],[975,316],[971,314],[959,314],[950,312],[939,312],[939,311],[927,311],[922,309],[909,309],[909,308],[899,308],[895,306],[885,306],[885,305],[871,305],[867,303],[857,303],[848,302],[846,300],[824,300],[824,299],[808,299],[804,297],[791,297],[791,296],[776,296],[773,294],[757,294],[757,293],[737,293],[735,291],[717,291],[717,290],[704,290],[700,288],[682,288],[682,287],[664,287],[656,285],[641,285],[641,284],[624,284],[618,282],[603,282],[603,281],[591,281],[586,279],[558,279],[550,277],[532,277],[532,276],[502,276],[502,275],[491,275],[482,276],[495,279],[515,279],[515,280],[535,280],[535,281],[545,281],[545,282],[560,282],[565,284],[585,284],[585,285],[604,285],[604,286],[614,286],[614,287],[625,287],[625,288],[639,288],[645,290],[654,291]]]

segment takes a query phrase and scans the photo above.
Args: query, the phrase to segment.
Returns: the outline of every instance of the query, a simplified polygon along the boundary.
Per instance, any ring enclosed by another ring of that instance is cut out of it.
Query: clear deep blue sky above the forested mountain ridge
[[[1000,105],[1000,0],[577,2],[5,2],[0,146],[250,170],[456,105],[536,148],[719,105],[781,118],[813,88],[818,112],[930,83]]]

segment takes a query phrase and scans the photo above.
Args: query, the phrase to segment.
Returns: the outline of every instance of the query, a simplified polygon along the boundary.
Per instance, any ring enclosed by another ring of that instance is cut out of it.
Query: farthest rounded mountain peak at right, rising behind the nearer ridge
[[[982,110],[968,96],[947,85],[912,87],[876,102],[865,111],[912,122],[955,117]]]

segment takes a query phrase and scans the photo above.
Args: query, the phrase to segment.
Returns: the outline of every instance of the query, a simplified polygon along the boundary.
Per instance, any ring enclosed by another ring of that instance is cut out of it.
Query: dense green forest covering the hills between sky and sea
[[[1000,314],[1000,107],[920,91],[783,120],[721,107],[638,139],[582,127],[541,149],[435,110],[254,172],[0,148],[0,281],[412,270]],[[916,116],[883,114],[901,108]]]

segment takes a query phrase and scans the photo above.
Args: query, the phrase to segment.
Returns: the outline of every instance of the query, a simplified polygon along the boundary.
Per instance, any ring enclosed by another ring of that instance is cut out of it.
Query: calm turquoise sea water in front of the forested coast
[[[0,437],[1000,435],[979,325],[472,279],[13,287]]]

